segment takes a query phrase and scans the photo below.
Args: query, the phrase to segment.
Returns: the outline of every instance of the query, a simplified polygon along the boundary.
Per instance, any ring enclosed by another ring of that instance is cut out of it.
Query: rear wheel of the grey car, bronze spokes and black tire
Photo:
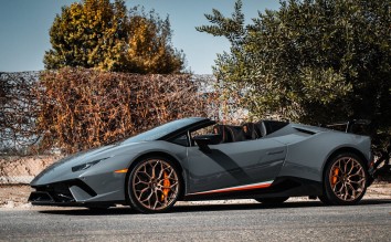
[[[342,152],[326,165],[324,194],[319,199],[329,206],[351,206],[359,202],[368,187],[369,175],[363,160]]]

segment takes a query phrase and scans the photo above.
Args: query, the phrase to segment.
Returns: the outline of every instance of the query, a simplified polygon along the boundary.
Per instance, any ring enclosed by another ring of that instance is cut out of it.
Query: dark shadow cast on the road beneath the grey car
[[[366,199],[360,201],[355,207],[363,206],[374,206],[374,204],[387,204],[391,203],[391,199]],[[184,213],[184,212],[208,212],[208,211],[233,211],[233,210],[260,210],[260,209],[294,209],[294,208],[316,208],[325,207],[320,201],[293,201],[285,202],[278,206],[264,206],[262,203],[222,203],[222,204],[179,204],[175,206],[170,213]],[[89,210],[81,208],[67,208],[67,209],[56,209],[56,210],[42,210],[40,213],[45,214],[63,214],[63,215],[128,215],[128,214],[139,214],[134,209],[128,207],[117,207],[106,210]]]

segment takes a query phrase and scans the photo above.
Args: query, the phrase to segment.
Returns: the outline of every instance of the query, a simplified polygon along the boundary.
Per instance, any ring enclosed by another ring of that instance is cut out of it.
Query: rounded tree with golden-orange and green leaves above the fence
[[[128,11],[123,0],[83,0],[63,7],[50,30],[47,70],[94,67],[133,73],[179,73],[184,55],[173,49],[170,22],[154,12]]]

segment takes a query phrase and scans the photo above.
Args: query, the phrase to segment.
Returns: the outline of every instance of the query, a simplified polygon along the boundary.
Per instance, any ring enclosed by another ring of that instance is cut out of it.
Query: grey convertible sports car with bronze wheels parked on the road
[[[276,120],[175,120],[53,164],[31,182],[34,206],[163,212],[178,200],[289,197],[353,204],[372,182],[370,138]]]

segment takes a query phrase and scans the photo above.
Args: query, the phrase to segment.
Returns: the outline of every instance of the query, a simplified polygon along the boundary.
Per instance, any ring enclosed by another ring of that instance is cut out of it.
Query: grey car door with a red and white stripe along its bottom
[[[188,148],[189,192],[202,194],[268,187],[278,175],[286,146],[272,138]]]

